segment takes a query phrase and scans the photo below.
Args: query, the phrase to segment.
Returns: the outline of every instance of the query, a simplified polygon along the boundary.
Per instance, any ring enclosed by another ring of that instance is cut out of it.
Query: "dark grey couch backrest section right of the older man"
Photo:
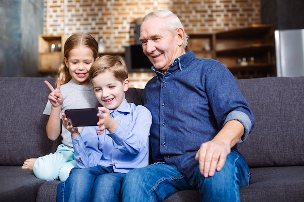
[[[304,77],[237,80],[255,116],[238,144],[250,167],[304,165]]]

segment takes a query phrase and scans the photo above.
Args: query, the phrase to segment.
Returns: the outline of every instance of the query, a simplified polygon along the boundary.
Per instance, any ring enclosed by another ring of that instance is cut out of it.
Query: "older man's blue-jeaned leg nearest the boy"
[[[184,176],[167,164],[152,164],[128,172],[121,187],[122,202],[162,202],[190,189]]]

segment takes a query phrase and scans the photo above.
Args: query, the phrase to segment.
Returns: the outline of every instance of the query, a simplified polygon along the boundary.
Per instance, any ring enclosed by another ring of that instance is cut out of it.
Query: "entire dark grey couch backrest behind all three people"
[[[26,158],[54,152],[61,139],[47,138],[46,78],[0,78],[0,165],[21,166]],[[47,78],[51,84],[54,78]],[[250,167],[304,165],[304,77],[237,80],[252,107],[255,126],[238,144]],[[130,88],[139,104],[142,89]]]

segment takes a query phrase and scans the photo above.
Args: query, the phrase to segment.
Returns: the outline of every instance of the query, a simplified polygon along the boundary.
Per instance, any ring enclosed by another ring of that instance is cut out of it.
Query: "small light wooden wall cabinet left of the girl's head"
[[[53,75],[63,61],[64,44],[66,38],[63,35],[38,36],[38,72]]]

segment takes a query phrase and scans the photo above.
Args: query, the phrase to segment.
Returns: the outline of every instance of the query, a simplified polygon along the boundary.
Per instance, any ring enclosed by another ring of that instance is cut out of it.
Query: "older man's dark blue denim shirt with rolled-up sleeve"
[[[153,162],[167,162],[188,179],[197,168],[195,155],[230,120],[244,127],[244,141],[254,117],[235,78],[220,62],[196,58],[192,51],[175,59],[166,75],[146,85],[143,105],[152,112],[150,142]],[[232,148],[237,152],[237,146]],[[238,152],[237,152],[238,153]]]

